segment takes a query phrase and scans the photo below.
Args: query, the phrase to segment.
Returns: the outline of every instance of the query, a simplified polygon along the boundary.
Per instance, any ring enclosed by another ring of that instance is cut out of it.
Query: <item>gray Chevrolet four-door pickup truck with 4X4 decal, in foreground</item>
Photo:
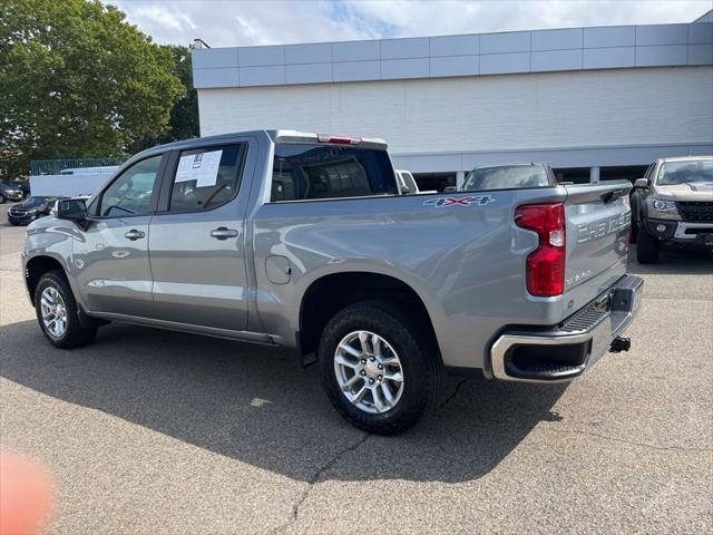
[[[629,188],[402,195],[382,140],[231,134],[59,201],[22,262],[58,348],[108,321],[295,348],[343,417],[394,434],[445,371],[547,383],[628,349]]]

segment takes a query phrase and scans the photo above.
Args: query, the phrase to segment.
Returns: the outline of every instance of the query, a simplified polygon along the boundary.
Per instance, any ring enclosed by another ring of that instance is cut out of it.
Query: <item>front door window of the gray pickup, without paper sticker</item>
[[[163,155],[137,162],[115,179],[101,194],[96,215],[120,217],[147,215]]]

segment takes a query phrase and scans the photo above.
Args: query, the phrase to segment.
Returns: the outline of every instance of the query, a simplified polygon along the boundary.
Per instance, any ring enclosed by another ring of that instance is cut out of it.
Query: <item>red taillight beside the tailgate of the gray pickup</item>
[[[537,249],[527,256],[527,291],[538,298],[561,295],[567,255],[565,205],[518,206],[515,224],[535,231],[539,237]]]

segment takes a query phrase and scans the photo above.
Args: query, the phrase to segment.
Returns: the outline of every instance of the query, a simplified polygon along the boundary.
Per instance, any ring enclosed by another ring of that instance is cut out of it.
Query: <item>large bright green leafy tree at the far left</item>
[[[0,0],[0,158],[118,156],[167,130],[172,51],[98,0]]]

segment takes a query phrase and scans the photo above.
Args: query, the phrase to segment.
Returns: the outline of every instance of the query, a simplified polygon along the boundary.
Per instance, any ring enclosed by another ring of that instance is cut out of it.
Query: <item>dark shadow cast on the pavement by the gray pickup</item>
[[[341,480],[481,477],[538,422],[561,419],[551,408],[566,388],[450,378],[451,397],[417,428],[359,444],[316,367],[284,350],[116,324],[60,351],[35,321],[1,327],[0,340],[10,381],[305,481],[328,466]]]

